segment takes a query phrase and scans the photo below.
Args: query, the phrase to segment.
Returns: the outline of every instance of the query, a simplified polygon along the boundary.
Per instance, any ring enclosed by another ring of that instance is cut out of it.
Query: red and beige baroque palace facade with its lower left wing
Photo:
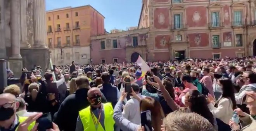
[[[256,55],[255,10],[254,0],[142,0],[138,29],[91,37],[91,60]]]

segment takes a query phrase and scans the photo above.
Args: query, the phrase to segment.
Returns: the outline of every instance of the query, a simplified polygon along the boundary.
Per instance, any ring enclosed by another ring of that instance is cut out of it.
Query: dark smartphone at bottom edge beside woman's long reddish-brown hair
[[[141,126],[144,126],[144,131],[152,131],[152,125],[151,125],[151,113],[149,110],[143,111],[140,114],[141,119]]]

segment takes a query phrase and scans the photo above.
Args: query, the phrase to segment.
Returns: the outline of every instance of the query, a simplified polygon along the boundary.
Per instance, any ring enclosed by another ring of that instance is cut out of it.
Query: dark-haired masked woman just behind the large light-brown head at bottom
[[[185,95],[185,106],[202,117],[208,119],[208,121],[214,126],[214,117],[207,106],[207,101],[205,96],[201,94],[198,90],[190,90]]]

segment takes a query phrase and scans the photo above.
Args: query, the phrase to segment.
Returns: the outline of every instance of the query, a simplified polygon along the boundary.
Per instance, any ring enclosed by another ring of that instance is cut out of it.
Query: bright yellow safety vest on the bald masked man
[[[105,130],[103,129],[102,125],[99,123],[97,131],[114,131],[114,124],[115,121],[113,119],[114,110],[111,103],[103,104],[104,109],[104,126]],[[92,120],[91,115],[91,106],[86,107],[85,109],[79,111],[79,116],[81,119],[81,122],[83,124],[83,130],[84,131],[96,131],[95,125]],[[98,119],[93,114],[93,117],[96,121]]]

